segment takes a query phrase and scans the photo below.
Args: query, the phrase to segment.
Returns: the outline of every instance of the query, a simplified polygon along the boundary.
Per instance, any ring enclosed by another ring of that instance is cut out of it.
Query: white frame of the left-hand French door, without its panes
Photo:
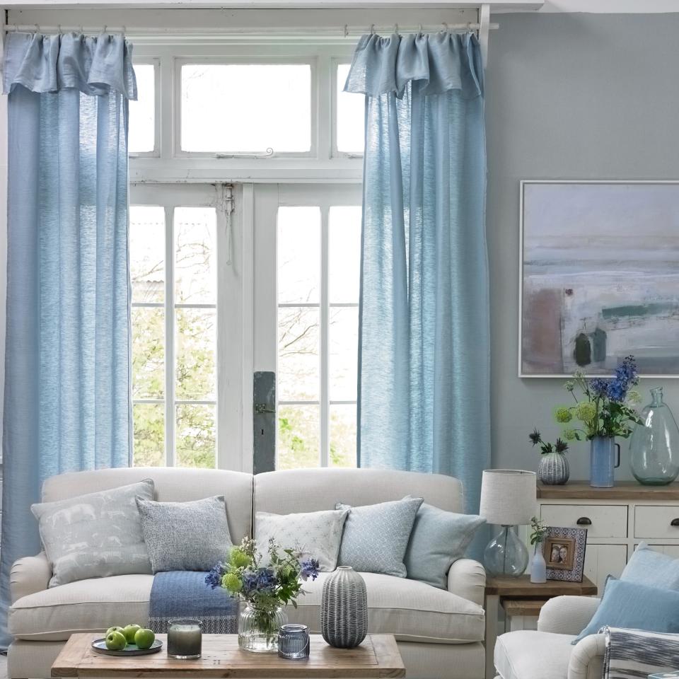
[[[226,187],[225,187],[226,188]],[[252,342],[248,332],[248,310],[243,309],[244,287],[252,285],[252,244],[240,228],[242,210],[228,215],[220,204],[223,185],[132,185],[131,205],[155,205],[165,210],[165,295],[162,302],[132,302],[132,308],[163,308],[165,313],[165,397],[133,399],[140,403],[165,405],[164,462],[177,463],[175,448],[176,407],[182,404],[215,405],[216,468],[248,471],[252,460],[243,454],[252,450],[252,362],[244,347]],[[234,206],[243,201],[243,187],[233,188]],[[176,207],[216,209],[217,298],[214,304],[175,302]],[[225,209],[226,208],[226,209]],[[250,232],[251,235],[251,232]],[[249,253],[248,258],[245,253]],[[244,256],[245,255],[245,256]],[[216,311],[216,394],[211,400],[175,399],[175,310],[214,308]],[[250,329],[252,325],[249,326]],[[250,426],[245,423],[250,422]],[[251,455],[250,455],[251,458]]]

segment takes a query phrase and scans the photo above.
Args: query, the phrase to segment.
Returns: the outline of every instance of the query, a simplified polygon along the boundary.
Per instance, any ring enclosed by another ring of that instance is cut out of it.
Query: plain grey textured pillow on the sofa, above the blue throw
[[[233,543],[224,495],[190,502],[137,498],[137,506],[153,573],[209,571],[226,561]]]

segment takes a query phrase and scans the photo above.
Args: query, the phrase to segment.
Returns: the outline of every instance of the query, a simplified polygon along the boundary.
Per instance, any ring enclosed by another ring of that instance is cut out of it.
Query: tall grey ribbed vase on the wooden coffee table
[[[350,566],[340,566],[323,583],[320,632],[336,649],[354,649],[368,634],[366,583]]]

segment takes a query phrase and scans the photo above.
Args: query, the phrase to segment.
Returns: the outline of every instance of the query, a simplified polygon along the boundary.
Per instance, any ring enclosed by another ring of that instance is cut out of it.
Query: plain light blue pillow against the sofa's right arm
[[[465,555],[477,528],[485,522],[475,514],[456,514],[422,504],[405,552],[407,576],[447,589],[451,564]]]

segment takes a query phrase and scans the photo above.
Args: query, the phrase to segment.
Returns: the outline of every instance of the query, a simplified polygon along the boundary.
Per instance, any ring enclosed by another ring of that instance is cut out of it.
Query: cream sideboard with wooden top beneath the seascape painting
[[[617,482],[538,484],[540,518],[549,526],[587,528],[585,575],[603,592],[606,577],[620,576],[639,542],[679,557],[679,483],[642,486]]]

